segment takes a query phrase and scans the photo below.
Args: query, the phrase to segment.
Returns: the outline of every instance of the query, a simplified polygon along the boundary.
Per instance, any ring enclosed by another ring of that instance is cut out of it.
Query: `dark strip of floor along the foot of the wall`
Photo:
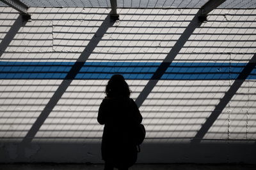
[[[0,169],[10,170],[99,170],[102,164],[0,164]],[[255,170],[256,165],[244,164],[136,164],[129,170]]]

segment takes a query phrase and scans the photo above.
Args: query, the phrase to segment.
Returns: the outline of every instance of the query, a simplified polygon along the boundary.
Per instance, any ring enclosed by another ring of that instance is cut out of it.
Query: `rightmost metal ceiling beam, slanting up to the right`
[[[207,15],[212,10],[220,6],[220,4],[224,3],[226,0],[209,0],[207,3],[205,3],[201,8],[201,15],[199,15],[198,19],[200,22],[204,22],[207,20]]]

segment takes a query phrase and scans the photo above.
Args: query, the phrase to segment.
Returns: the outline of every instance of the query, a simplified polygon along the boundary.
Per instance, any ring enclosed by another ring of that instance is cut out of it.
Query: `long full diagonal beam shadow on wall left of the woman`
[[[83,67],[88,57],[90,57],[91,53],[93,52],[95,47],[98,45],[100,39],[102,39],[102,36],[104,36],[108,28],[112,27],[114,23],[115,22],[110,19],[110,15],[108,15],[105,18],[105,20],[102,22],[99,29],[97,30],[97,32],[95,32],[93,38],[88,43],[84,51],[81,53],[81,55],[77,59],[74,66],[71,67],[65,79],[61,82],[56,92],[54,92],[49,102],[45,105],[44,110],[42,111],[42,113],[40,113],[39,117],[36,119],[31,129],[28,131],[28,134],[26,134],[26,136],[22,140],[23,145],[33,140],[36,133],[39,131],[40,127],[42,126],[42,124],[44,124],[46,118],[49,116],[49,114],[53,110],[54,106],[56,106],[56,104],[58,103],[58,101],[60,100],[64,92],[67,90],[72,80],[74,80],[77,73],[79,73],[80,69]]]

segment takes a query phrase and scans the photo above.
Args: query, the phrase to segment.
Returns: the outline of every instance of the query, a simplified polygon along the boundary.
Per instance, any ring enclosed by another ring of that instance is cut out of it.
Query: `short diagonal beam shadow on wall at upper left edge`
[[[9,29],[9,31],[7,32],[7,34],[4,36],[3,40],[0,43],[0,57],[3,55],[6,48],[12,42],[20,27],[26,25],[26,23],[27,21],[23,20],[22,15],[19,15],[19,17],[15,20],[12,27]]]

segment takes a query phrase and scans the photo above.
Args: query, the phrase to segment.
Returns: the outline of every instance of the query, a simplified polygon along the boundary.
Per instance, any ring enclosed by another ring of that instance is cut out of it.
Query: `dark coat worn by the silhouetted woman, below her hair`
[[[104,125],[102,159],[118,166],[132,166],[137,160],[137,148],[132,144],[132,124],[141,123],[142,117],[136,103],[130,98],[105,98],[100,104],[99,124]]]

